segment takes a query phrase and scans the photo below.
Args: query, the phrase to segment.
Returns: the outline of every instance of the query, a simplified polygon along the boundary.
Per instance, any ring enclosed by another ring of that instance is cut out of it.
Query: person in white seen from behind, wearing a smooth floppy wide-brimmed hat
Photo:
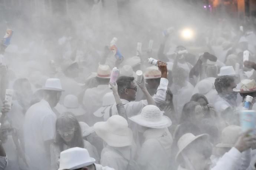
[[[135,143],[128,122],[119,115],[111,116],[106,122],[97,122],[93,126],[96,134],[106,142],[101,152],[101,164],[115,170],[136,169],[133,158]],[[132,167],[131,167],[132,166]]]

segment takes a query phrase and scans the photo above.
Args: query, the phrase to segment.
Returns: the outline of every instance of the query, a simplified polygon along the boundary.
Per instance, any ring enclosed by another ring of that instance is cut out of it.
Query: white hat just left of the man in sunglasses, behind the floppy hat
[[[102,98],[102,106],[96,110],[93,115],[96,117],[102,117],[104,113],[109,112],[109,106],[114,105],[115,103],[115,97],[113,95],[113,92],[106,93]]]

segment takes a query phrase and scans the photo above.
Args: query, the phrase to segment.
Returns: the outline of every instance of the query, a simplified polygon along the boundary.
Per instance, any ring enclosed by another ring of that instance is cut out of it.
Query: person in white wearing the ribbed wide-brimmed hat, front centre
[[[145,106],[140,115],[129,118],[139,125],[144,142],[137,163],[142,170],[169,170],[173,138],[168,130],[171,120],[157,106]]]

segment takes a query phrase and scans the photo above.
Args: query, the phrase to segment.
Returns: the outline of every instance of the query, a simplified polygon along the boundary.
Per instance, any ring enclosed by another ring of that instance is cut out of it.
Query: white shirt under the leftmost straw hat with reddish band
[[[86,89],[83,95],[83,105],[88,114],[93,114],[102,106],[102,97],[111,92],[108,85],[98,85],[97,87]]]

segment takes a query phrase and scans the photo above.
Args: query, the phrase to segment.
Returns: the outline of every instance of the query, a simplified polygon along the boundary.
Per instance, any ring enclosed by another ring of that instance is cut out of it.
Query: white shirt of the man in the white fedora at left
[[[55,124],[56,115],[44,99],[27,110],[24,121],[24,143],[25,153],[30,159],[32,169],[50,169],[44,142],[54,138]]]

